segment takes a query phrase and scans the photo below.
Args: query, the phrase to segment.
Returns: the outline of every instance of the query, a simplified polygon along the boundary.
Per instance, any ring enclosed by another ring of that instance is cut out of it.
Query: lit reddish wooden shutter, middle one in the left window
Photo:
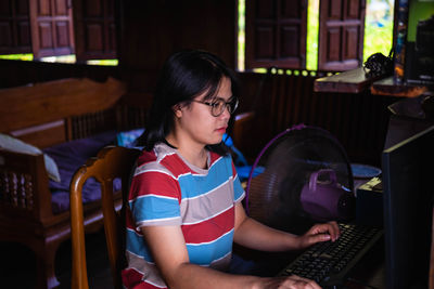
[[[74,53],[71,0],[28,0],[35,58]]]

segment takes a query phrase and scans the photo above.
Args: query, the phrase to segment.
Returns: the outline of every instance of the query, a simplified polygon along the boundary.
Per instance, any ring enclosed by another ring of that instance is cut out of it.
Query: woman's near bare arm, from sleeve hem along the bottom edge
[[[144,226],[141,231],[168,288],[319,288],[316,283],[298,276],[231,275],[191,264],[179,226]]]

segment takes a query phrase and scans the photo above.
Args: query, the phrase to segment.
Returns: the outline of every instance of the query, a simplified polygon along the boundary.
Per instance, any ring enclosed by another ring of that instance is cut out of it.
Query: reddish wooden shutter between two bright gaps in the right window
[[[321,0],[318,69],[343,71],[363,61],[365,0]]]

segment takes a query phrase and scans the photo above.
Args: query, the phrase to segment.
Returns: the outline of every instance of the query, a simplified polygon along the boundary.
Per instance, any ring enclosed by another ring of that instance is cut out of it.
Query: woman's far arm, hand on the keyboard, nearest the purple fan
[[[319,241],[336,240],[339,227],[335,222],[314,225],[303,236],[270,228],[245,214],[241,202],[235,205],[234,241],[244,247],[263,251],[298,250]]]

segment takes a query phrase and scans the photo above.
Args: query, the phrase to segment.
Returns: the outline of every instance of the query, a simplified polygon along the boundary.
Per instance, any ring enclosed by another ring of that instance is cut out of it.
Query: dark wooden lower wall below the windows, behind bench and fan
[[[154,84],[144,87],[140,82],[145,82],[144,74],[135,71],[129,71],[135,81],[129,82],[124,100],[130,105],[149,107]],[[0,88],[68,77],[104,81],[108,76],[124,78],[125,74],[117,67],[0,61]],[[279,132],[305,123],[330,131],[347,149],[352,161],[380,166],[390,117],[387,105],[396,102],[396,97],[372,95],[369,91],[315,93],[314,81],[318,76],[309,74],[239,73],[239,77],[242,94],[238,113],[255,111],[239,147],[248,159],[254,160]],[[156,79],[156,73],[152,79]]]

